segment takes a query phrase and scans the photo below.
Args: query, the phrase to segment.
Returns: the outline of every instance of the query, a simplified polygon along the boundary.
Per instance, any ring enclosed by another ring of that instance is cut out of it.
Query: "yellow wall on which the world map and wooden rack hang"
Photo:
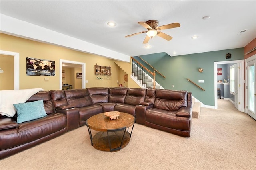
[[[108,59],[106,57],[101,57],[98,55],[83,53],[80,51],[74,51],[74,50],[67,49],[64,47],[59,47],[56,45],[50,45],[46,43],[40,43],[37,41],[14,37],[14,36],[6,35],[3,33],[0,34],[0,41],[1,41],[1,45],[0,45],[1,50],[20,53],[20,89],[26,89],[26,88],[43,88],[44,90],[59,89],[59,77],[60,77],[59,60],[60,59],[86,63],[86,80],[88,80],[88,83],[86,83],[86,88],[117,87],[118,86],[117,80],[120,81],[120,67],[112,59]],[[26,57],[55,61],[55,76],[27,76],[26,75]],[[102,76],[101,79],[97,79],[97,77],[99,76],[96,76],[94,74],[94,65],[96,63],[102,66],[111,66],[111,73],[112,73],[111,76],[110,77]],[[121,63],[126,63],[126,62],[121,62]],[[73,71],[73,75],[75,76],[75,80],[76,80],[75,70]],[[44,80],[45,77],[49,78],[49,80]],[[121,82],[123,82],[123,79]],[[69,82],[66,82],[66,83],[69,83]],[[77,84],[76,82],[74,83]]]

